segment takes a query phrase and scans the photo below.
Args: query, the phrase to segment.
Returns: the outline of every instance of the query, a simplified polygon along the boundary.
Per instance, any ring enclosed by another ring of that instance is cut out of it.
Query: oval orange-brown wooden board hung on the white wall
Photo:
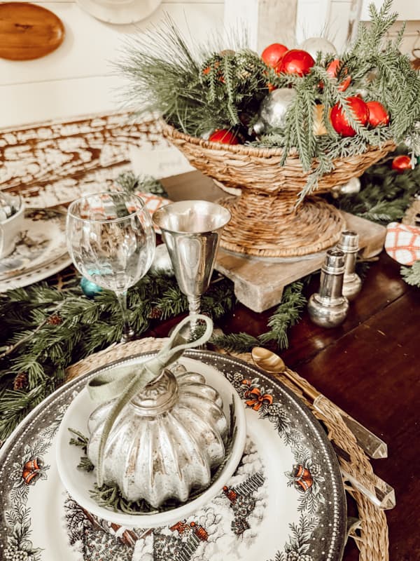
[[[27,2],[0,4],[0,58],[32,60],[52,53],[64,39],[55,13]]]

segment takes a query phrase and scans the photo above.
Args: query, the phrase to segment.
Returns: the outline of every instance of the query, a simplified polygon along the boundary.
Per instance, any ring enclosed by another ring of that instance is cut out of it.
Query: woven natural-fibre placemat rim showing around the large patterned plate
[[[96,368],[138,353],[157,351],[162,347],[165,341],[167,341],[167,339],[153,339],[149,337],[130,343],[114,344],[104,351],[95,353],[71,365],[66,370],[66,379],[69,380],[81,376],[82,374],[87,374],[87,372],[91,372]],[[232,353],[232,356],[252,364],[251,355],[248,353]],[[309,382],[301,378],[298,374],[294,374],[305,387],[312,388]],[[374,473],[370,461],[363,450],[358,447],[356,438],[344,424],[344,421],[342,421],[335,407],[327,400],[321,400],[321,402],[318,403],[321,412],[314,410],[314,408],[311,407],[311,403],[302,396],[302,393],[288,381],[288,379],[282,377],[281,374],[274,377],[279,379],[282,384],[299,396],[309,409],[311,409],[314,416],[320,421],[323,421],[323,424],[328,428],[328,438],[334,440],[339,447],[342,447],[342,449],[349,454],[349,461],[339,458],[339,463],[342,465],[342,468],[373,492],[374,485],[372,478]],[[352,525],[349,536],[356,541],[360,552],[360,561],[388,561],[388,525],[384,511],[373,506],[363,494],[353,489],[350,485],[347,485],[346,482],[344,482],[344,488],[357,503],[359,520],[357,524]]]

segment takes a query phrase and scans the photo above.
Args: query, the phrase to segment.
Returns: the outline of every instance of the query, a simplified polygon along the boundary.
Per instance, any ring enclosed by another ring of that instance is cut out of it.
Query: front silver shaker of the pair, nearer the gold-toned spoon
[[[309,317],[316,325],[337,327],[346,318],[349,301],[342,295],[343,280],[344,253],[328,250],[321,267],[319,292],[311,295],[308,302]]]

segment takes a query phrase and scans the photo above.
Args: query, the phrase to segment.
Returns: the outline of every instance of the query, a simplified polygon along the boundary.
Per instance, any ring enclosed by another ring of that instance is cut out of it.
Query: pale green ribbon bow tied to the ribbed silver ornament
[[[187,342],[181,336],[181,330],[188,323],[190,323],[190,328],[192,329],[193,326],[197,325],[198,320],[202,320],[206,324],[206,330],[198,339]],[[160,349],[156,356],[141,365],[136,365],[136,372],[131,371],[125,374],[117,374],[115,371],[109,370],[103,374],[98,374],[87,383],[87,391],[93,401],[104,403],[105,401],[117,398],[106,417],[104,430],[99,441],[96,466],[98,487],[102,487],[104,484],[103,462],[106,440],[108,440],[111,428],[125,405],[139,391],[145,388],[147,384],[157,379],[165,367],[178,360],[183,351],[207,343],[212,331],[213,322],[207,316],[200,314],[188,316],[176,326],[171,337],[169,337],[169,341]]]

